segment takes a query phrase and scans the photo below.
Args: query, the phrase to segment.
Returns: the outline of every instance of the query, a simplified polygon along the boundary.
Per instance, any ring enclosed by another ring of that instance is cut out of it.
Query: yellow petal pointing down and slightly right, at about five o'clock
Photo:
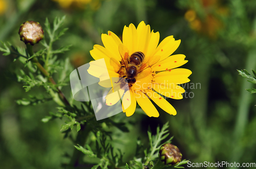
[[[156,118],[159,117],[159,113],[156,107],[152,104],[150,99],[148,99],[144,93],[138,92],[136,93],[135,97],[138,104],[140,105],[140,107],[146,113],[147,116]]]

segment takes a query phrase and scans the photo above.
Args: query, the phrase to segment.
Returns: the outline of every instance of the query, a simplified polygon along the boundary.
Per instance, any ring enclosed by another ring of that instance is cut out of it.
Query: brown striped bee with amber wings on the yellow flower
[[[132,84],[136,82],[139,73],[152,67],[160,60],[160,56],[145,58],[145,54],[141,51],[136,51],[129,56],[129,50],[123,44],[120,44],[118,49],[121,56],[121,67],[117,73],[121,78],[116,83],[125,78],[129,87],[132,87]]]

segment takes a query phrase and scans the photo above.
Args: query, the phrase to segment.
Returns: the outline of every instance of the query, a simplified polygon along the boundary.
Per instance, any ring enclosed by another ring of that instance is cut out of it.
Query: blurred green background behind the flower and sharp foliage
[[[130,133],[111,129],[114,147],[125,152],[123,160],[133,158],[138,136],[146,144],[149,125],[154,133],[158,124],[169,121],[173,143],[184,159],[256,162],[256,95],[245,90],[252,83],[237,72],[256,68],[255,9],[253,0],[0,0],[0,40],[25,47],[18,36],[21,23],[34,20],[44,28],[46,17],[53,22],[66,15],[64,27],[69,30],[55,45],[73,45],[58,58],[69,58],[75,69],[92,60],[89,51],[102,44],[101,33],[110,30],[121,37],[124,25],[144,20],[160,33],[160,40],[169,35],[181,39],[175,54],[186,55],[189,62],[182,67],[193,74],[183,85],[184,99],[168,100],[176,116],[159,109],[159,118],[127,118]],[[35,106],[15,102],[28,94],[15,81],[13,73],[23,65],[13,59],[0,53],[0,168],[60,168],[73,151],[72,142],[60,132],[64,120],[41,122],[49,111],[57,111],[52,101]],[[43,91],[34,88],[30,95]],[[63,88],[69,97],[70,91]]]

